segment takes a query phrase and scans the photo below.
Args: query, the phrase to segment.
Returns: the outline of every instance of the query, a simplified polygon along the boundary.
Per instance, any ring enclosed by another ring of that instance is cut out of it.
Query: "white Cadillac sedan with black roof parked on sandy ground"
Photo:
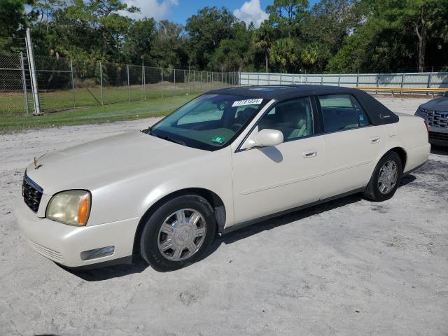
[[[217,232],[350,193],[388,200],[429,152],[425,120],[360,90],[214,90],[147,130],[35,159],[15,216],[66,267],[139,254],[169,271],[199,260]]]

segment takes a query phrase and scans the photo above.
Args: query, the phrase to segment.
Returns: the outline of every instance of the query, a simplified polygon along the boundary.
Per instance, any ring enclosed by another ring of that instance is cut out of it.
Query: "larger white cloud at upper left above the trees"
[[[159,21],[165,19],[174,6],[179,5],[179,0],[124,0],[127,6],[135,6],[140,8],[139,13],[127,13],[123,11],[121,14],[133,19],[154,18]]]

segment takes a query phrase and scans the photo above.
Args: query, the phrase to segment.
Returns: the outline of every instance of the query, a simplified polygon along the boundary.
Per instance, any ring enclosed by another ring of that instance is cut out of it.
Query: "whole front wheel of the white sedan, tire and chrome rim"
[[[197,195],[176,197],[148,218],[140,239],[141,256],[166,272],[199,260],[216,232],[209,202]]]

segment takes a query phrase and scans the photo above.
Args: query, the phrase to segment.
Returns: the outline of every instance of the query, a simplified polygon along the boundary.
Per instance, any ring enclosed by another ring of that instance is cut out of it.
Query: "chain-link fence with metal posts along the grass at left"
[[[72,62],[61,57],[35,56],[34,59],[44,113],[200,94],[239,83],[237,72]],[[34,112],[27,62],[23,55],[0,55],[0,115]]]

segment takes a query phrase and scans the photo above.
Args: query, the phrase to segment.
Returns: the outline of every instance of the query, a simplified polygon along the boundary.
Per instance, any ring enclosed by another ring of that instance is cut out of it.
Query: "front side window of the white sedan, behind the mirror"
[[[284,141],[313,134],[313,117],[309,97],[276,104],[258,123],[258,130],[278,130]]]

